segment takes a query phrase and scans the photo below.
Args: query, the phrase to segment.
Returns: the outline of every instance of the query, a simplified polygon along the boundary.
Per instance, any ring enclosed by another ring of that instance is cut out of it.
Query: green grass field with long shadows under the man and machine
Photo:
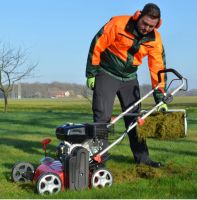
[[[152,106],[148,99],[143,108]],[[33,183],[13,183],[11,169],[18,161],[35,166],[43,157],[40,141],[50,137],[48,155],[55,157],[59,141],[55,128],[66,122],[91,122],[91,104],[87,100],[10,100],[8,112],[3,112],[0,101],[0,198],[1,199],[131,199],[131,198],[197,198],[197,97],[175,97],[170,108],[186,109],[188,135],[174,140],[147,139],[153,160],[165,163],[160,169],[136,166],[127,137],[110,150],[107,168],[114,183],[110,188],[65,191],[56,195],[40,196]],[[119,104],[114,114],[120,113]],[[124,131],[123,122],[116,125],[116,134]]]

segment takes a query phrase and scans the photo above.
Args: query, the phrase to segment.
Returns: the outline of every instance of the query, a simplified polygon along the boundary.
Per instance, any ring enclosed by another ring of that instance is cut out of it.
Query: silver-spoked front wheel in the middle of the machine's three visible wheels
[[[58,193],[62,188],[59,176],[51,172],[42,174],[36,185],[39,194]]]

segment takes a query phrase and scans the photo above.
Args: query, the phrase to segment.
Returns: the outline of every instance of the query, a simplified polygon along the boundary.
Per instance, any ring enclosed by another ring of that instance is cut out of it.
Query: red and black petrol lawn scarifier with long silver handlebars
[[[160,87],[161,74],[165,73],[173,73],[180,81],[180,85],[171,93],[165,93]],[[57,158],[46,156],[46,147],[51,140],[50,138],[44,139],[42,145],[45,157],[41,159],[41,164],[36,169],[28,162],[15,164],[12,170],[13,181],[33,181],[39,194],[53,194],[66,189],[81,190],[88,187],[103,188],[111,186],[113,176],[105,168],[105,162],[108,158],[107,152],[120,143],[131,129],[137,125],[142,126],[145,118],[156,112],[160,105],[163,103],[169,104],[173,100],[173,95],[183,89],[185,84],[187,88],[187,80],[174,69],[159,71],[158,80],[159,83],[154,89],[108,124],[68,123],[57,127],[56,137],[61,140],[57,147]],[[160,90],[163,93],[163,100],[147,112],[134,113],[136,122],[130,124],[118,139],[110,145],[106,145],[108,134],[113,131],[113,125],[125,115],[128,115],[129,111],[153,94],[155,90]]]

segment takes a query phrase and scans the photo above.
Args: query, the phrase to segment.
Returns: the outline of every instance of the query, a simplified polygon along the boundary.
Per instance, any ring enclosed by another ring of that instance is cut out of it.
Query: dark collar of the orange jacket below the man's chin
[[[148,41],[155,41],[155,32],[154,30],[151,31],[149,34],[141,36],[135,27],[135,21],[133,20],[133,17],[130,17],[128,23],[126,24],[125,31],[129,32],[136,36],[137,39],[142,40],[143,42]]]

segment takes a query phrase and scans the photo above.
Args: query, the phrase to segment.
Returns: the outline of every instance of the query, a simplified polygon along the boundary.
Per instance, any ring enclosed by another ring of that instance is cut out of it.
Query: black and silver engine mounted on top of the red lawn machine
[[[57,157],[62,160],[71,154],[77,147],[88,150],[89,157],[102,151],[107,144],[108,133],[112,128],[108,128],[107,123],[68,123],[56,128],[56,137],[61,140],[57,147]]]

